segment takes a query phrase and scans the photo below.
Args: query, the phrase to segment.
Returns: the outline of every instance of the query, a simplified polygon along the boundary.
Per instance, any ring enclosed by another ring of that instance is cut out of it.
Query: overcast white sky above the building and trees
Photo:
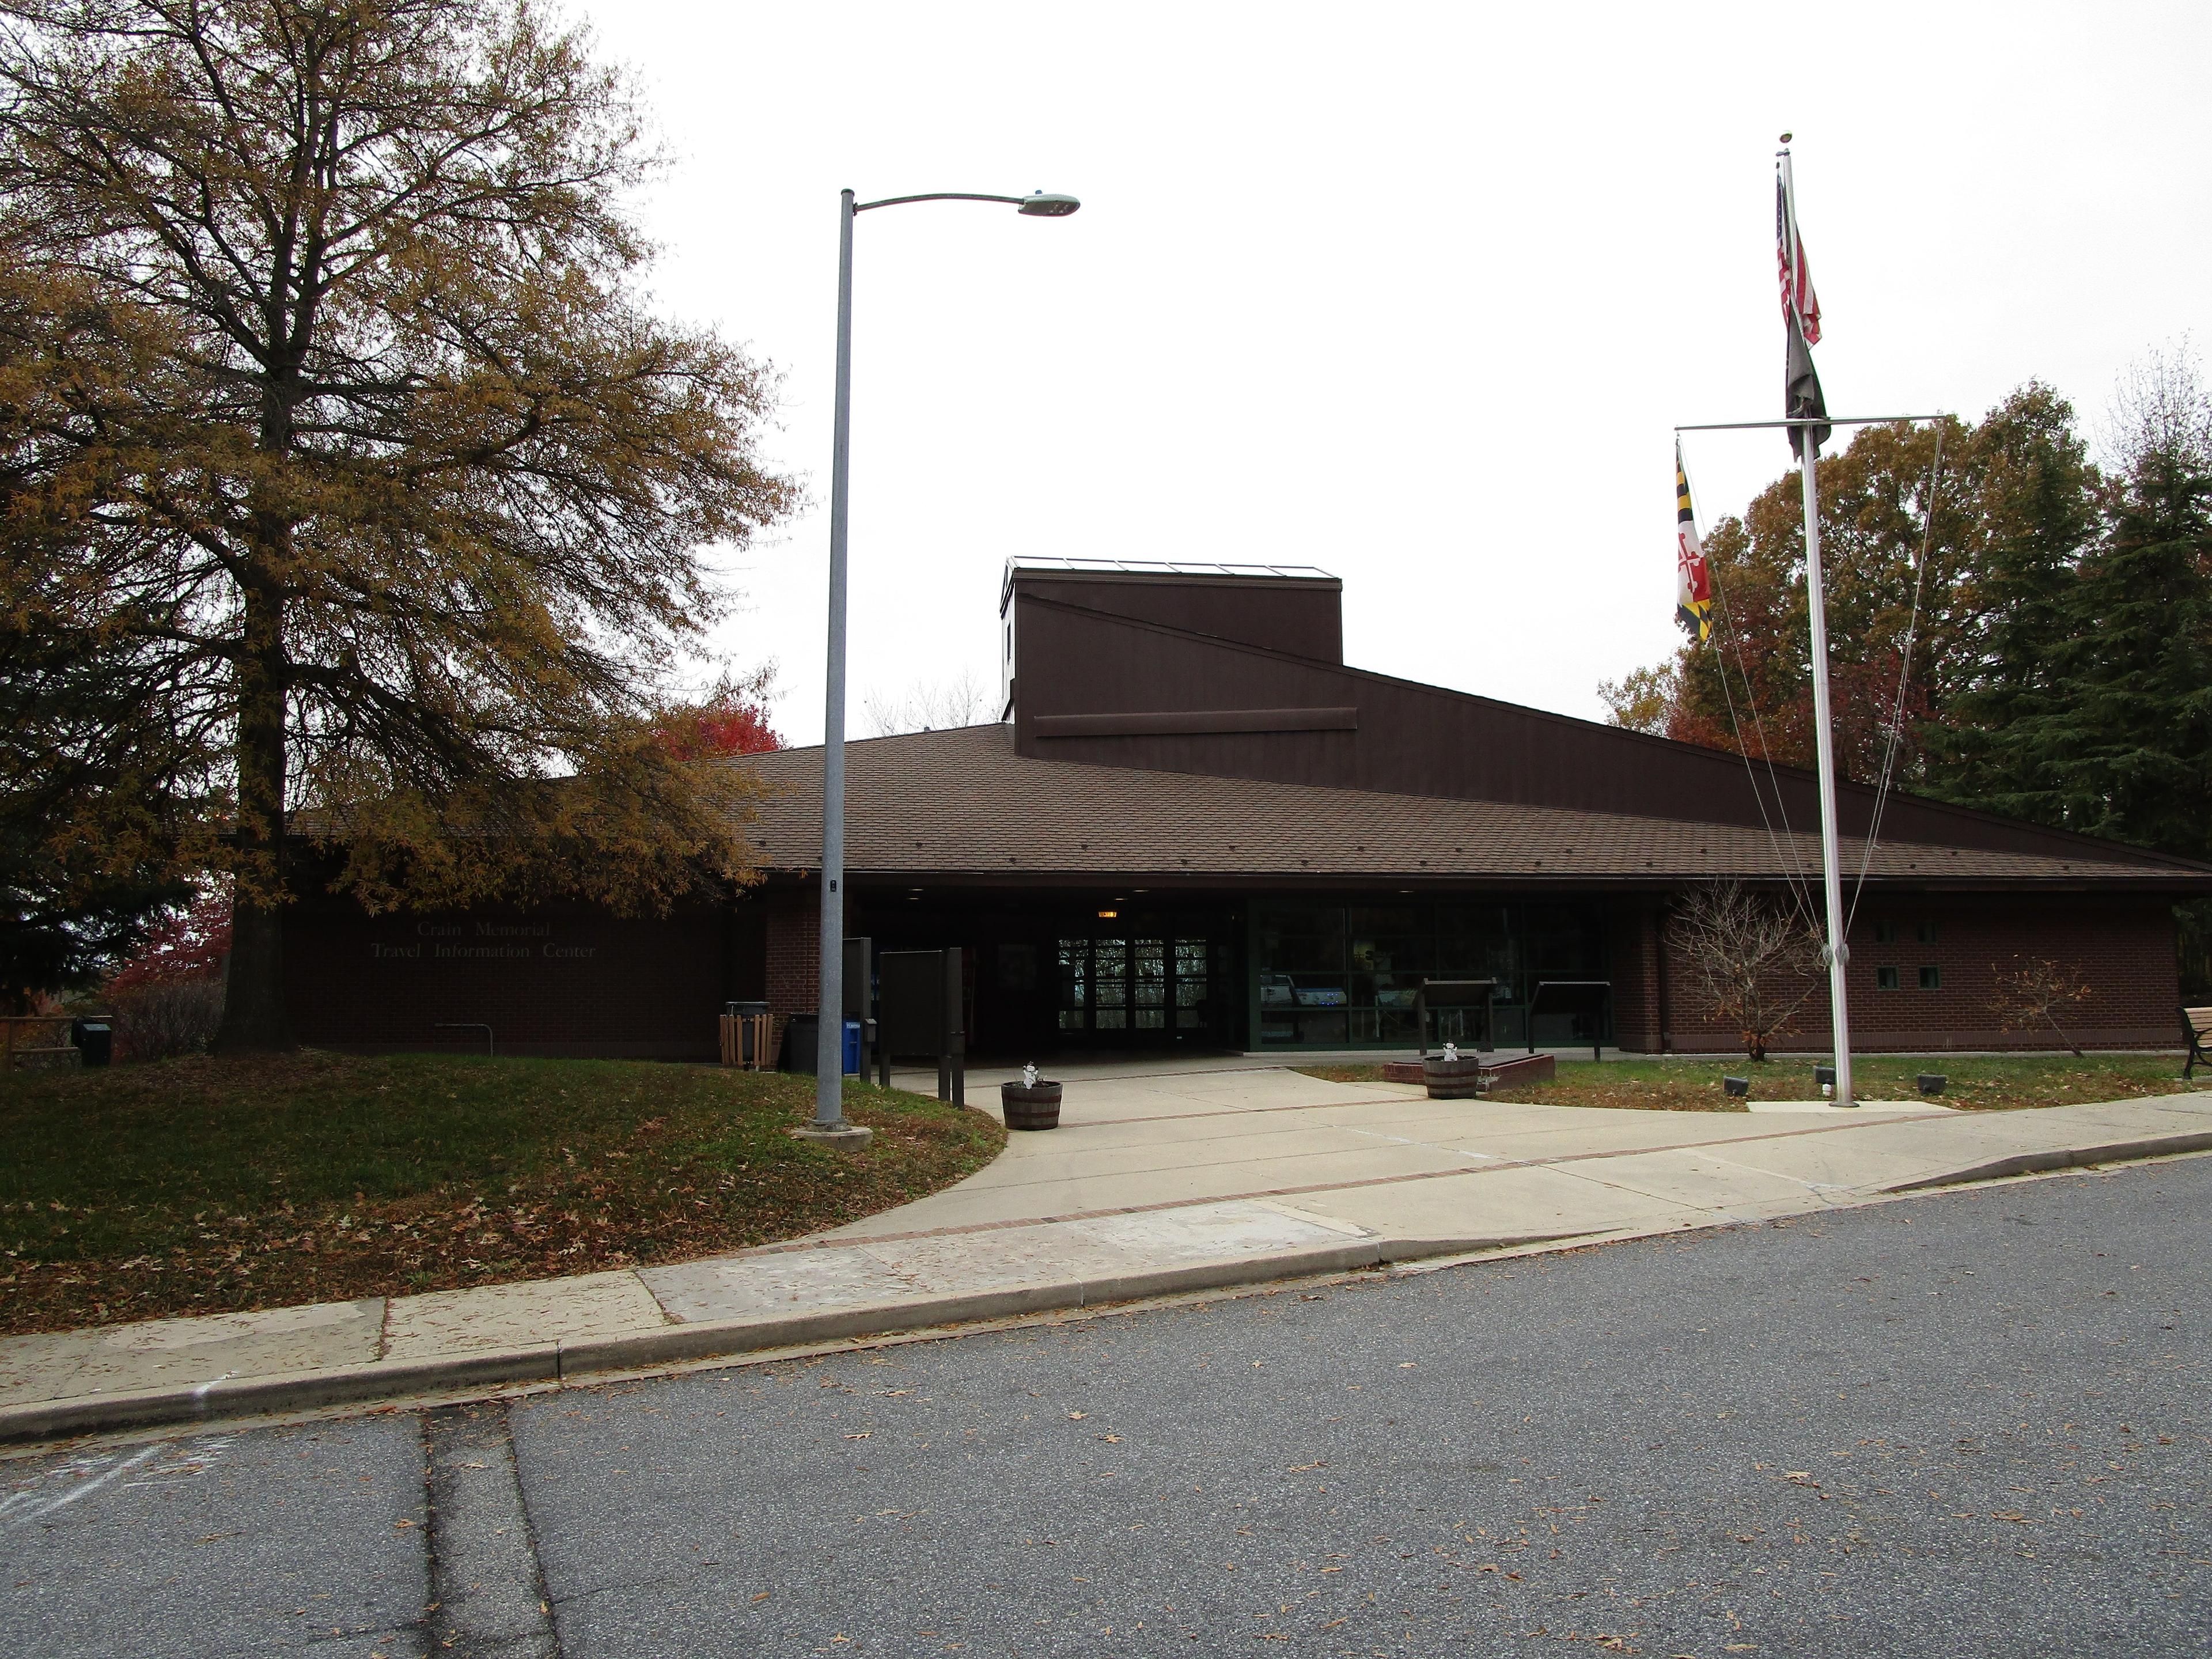
[[[995,688],[1009,555],[1345,580],[1352,664],[1599,717],[1672,648],[1672,425],[1781,414],[1772,155],[1829,409],[2101,414],[2212,345],[2199,4],[582,0],[677,157],[661,305],[783,372],[812,509],[717,644],[821,741],[836,192],[863,215],[852,730]],[[1796,20],[1794,20],[1796,18]],[[1705,522],[1787,469],[1692,436]]]

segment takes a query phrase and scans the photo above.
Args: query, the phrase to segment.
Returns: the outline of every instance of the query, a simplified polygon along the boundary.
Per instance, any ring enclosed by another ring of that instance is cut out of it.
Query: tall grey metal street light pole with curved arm
[[[865,1135],[845,1121],[845,498],[852,471],[852,221],[869,208],[909,201],[1004,201],[1029,219],[1066,219],[1075,197],[1033,190],[987,197],[940,190],[856,204],[838,195],[836,210],[836,434],[830,440],[830,672],[823,695],[823,878],[821,995],[814,1004],[814,1135]]]

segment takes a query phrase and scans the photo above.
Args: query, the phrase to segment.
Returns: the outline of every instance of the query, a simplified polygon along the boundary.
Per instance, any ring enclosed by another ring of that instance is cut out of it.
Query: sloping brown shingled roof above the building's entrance
[[[750,757],[770,869],[821,863],[821,748]],[[1759,827],[1155,772],[1015,754],[1009,726],[847,745],[845,867],[867,878],[1033,885],[1670,885],[1818,874],[1820,845]],[[2081,841],[2081,856],[1882,841],[1867,876],[1924,887],[2212,891],[2212,867]],[[1863,845],[1845,843],[1858,869]]]

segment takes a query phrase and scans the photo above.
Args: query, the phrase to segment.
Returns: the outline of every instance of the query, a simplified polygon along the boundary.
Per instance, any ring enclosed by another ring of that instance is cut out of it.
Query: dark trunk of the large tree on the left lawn
[[[248,582],[239,659],[239,880],[217,1053],[292,1046],[283,1011],[283,595],[274,584]]]

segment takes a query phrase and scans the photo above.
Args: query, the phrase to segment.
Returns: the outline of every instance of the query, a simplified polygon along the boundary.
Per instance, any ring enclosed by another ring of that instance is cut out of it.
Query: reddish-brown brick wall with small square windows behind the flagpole
[[[1876,938],[1882,922],[1893,940]],[[1920,929],[1933,929],[1922,942]],[[2059,1022],[2084,1048],[2172,1048],[2181,987],[2174,969],[2174,914],[2139,898],[1867,898],[1849,931],[1851,1048],[2055,1048],[2057,1033],[2004,1029],[1991,1006],[1997,975],[2031,958],[2051,958],[2090,984],[2090,998]],[[1898,989],[1878,989],[1878,969],[1898,971]],[[1940,989],[1920,987],[1920,969]],[[1683,1053],[1741,1053],[1739,1033],[1710,1020],[1690,964],[1668,949],[1672,1046]],[[1778,1051],[1829,1046],[1827,980],[1796,1011]]]

